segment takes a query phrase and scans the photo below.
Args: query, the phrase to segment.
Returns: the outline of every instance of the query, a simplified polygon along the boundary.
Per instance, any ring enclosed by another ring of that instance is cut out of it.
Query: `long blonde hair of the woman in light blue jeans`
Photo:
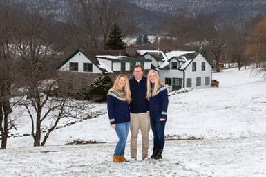
[[[115,79],[115,83],[113,84],[113,87],[110,88],[109,91],[115,91],[118,95],[120,95],[120,91],[119,91],[119,87],[118,87],[118,82],[119,82],[119,80],[120,80],[121,77],[124,77],[124,79],[126,80],[126,84],[123,87],[124,98],[125,98],[125,100],[127,102],[130,103],[131,102],[131,91],[130,91],[130,88],[129,88],[129,79],[126,77],[126,75],[124,75],[124,74],[118,75],[116,77],[116,79]]]

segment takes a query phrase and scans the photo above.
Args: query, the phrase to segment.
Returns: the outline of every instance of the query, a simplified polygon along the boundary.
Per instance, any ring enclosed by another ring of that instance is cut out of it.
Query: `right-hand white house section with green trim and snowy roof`
[[[160,79],[169,86],[170,91],[181,88],[211,88],[213,65],[201,52],[171,51],[159,53],[154,50],[137,52],[152,60],[152,65],[157,68]]]

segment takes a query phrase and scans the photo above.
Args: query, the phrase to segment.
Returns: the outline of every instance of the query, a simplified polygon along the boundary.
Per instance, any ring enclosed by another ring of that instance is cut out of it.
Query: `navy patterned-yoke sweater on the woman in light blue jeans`
[[[120,96],[115,91],[109,91],[107,95],[107,109],[110,124],[119,124],[130,121],[129,103],[124,99],[124,92]]]

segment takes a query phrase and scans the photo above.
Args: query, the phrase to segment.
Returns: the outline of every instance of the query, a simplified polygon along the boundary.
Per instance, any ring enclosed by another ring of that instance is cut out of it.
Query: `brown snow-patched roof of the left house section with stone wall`
[[[106,66],[100,59],[106,59],[112,62],[151,62],[149,59],[145,59],[139,53],[136,53],[134,57],[129,57],[126,54],[126,50],[89,50],[89,49],[77,49],[67,59],[62,62],[57,69],[61,68],[77,53],[81,52],[85,55],[102,73],[112,72],[112,69]]]

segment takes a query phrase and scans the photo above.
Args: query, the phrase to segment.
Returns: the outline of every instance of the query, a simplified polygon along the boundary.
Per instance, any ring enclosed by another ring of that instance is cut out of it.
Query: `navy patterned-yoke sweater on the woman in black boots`
[[[164,84],[160,84],[156,94],[151,94],[150,97],[150,116],[160,116],[162,119],[167,119],[168,102],[167,88]]]

